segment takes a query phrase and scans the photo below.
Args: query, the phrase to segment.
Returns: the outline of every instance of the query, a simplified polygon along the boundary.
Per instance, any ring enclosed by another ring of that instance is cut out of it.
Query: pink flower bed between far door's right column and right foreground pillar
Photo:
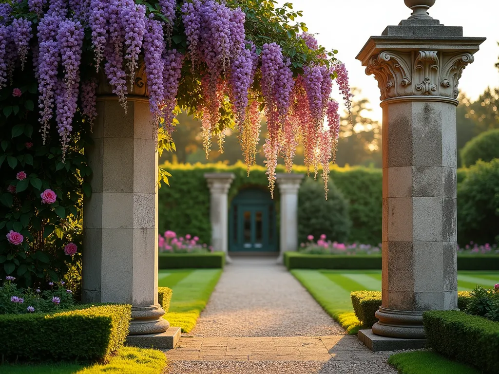
[[[308,254],[380,254],[381,244],[378,246],[357,243],[345,244],[329,240],[325,234],[321,234],[318,238],[308,235],[307,241],[300,244],[298,251]]]

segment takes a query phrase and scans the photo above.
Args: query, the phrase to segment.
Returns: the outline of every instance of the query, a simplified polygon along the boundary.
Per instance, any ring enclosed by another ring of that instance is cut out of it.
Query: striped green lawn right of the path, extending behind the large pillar
[[[350,292],[381,290],[381,270],[294,269],[291,273],[350,335],[357,334],[360,328],[353,313]],[[492,288],[496,283],[499,283],[499,271],[458,272],[459,291],[471,291],[477,285]]]

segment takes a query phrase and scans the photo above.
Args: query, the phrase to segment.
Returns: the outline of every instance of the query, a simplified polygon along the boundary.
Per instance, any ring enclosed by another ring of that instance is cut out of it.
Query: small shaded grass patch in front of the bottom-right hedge
[[[479,374],[478,370],[448,360],[431,351],[405,352],[390,356],[388,363],[401,374]]]

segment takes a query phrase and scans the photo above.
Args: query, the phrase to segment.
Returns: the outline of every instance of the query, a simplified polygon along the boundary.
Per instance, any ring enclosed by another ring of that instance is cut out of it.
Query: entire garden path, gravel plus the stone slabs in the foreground
[[[165,374],[396,374],[275,259],[235,258]]]

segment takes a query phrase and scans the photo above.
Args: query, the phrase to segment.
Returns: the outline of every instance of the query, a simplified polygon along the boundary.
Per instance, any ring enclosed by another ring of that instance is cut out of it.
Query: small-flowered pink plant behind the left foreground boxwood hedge
[[[51,284],[49,284],[51,283]],[[0,314],[50,313],[72,307],[73,293],[66,282],[47,282],[47,288],[19,288],[8,275],[0,286]]]

